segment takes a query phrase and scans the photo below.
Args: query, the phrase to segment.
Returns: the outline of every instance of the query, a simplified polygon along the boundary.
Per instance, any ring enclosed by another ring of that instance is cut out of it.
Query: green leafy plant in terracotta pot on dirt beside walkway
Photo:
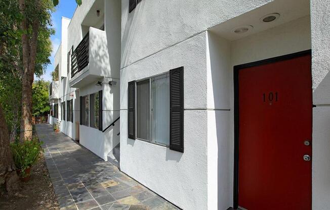
[[[23,143],[11,143],[13,160],[16,167],[16,173],[23,182],[30,180],[31,167],[39,158],[39,154],[43,151],[41,145],[36,138]]]

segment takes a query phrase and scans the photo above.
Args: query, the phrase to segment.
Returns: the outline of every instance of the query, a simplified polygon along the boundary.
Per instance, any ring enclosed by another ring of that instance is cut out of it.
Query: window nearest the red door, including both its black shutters
[[[128,83],[128,138],[184,151],[183,67]]]

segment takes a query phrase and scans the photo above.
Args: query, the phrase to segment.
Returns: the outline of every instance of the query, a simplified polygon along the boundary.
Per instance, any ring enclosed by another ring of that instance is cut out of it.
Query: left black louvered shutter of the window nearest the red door
[[[129,82],[128,87],[128,135],[135,140],[135,81]]]

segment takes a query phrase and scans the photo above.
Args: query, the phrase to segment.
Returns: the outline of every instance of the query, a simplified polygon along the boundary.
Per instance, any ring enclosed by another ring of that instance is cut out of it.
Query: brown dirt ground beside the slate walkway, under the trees
[[[14,197],[0,197],[0,209],[58,210],[60,209],[54,187],[47,170],[44,154],[32,167],[31,179],[20,183]]]

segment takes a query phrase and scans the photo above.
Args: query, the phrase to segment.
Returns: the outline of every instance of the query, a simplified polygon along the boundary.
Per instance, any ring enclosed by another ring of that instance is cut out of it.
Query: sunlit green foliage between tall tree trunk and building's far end
[[[34,117],[45,116],[49,112],[48,88],[48,81],[37,80],[32,84],[32,115]]]

